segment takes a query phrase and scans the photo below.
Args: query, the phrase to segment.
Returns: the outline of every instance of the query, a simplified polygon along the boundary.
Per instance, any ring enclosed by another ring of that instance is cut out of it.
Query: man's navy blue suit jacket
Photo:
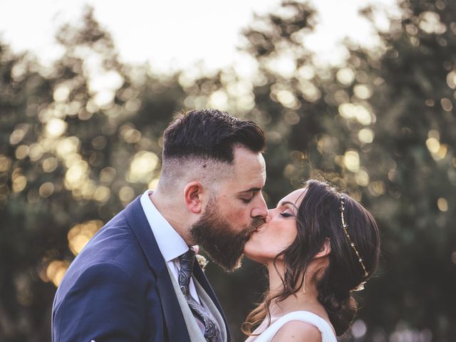
[[[199,264],[194,275],[222,308]],[[229,341],[229,332],[228,341]],[[76,257],[57,289],[52,341],[190,341],[165,260],[140,197]]]

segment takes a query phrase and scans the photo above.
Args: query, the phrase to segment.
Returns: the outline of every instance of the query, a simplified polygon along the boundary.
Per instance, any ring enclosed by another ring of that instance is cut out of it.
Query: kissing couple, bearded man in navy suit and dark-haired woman
[[[269,273],[246,318],[247,341],[335,342],[356,314],[352,292],[378,263],[371,214],[316,180],[267,209],[264,131],[219,110],[177,115],[162,171],[68,268],[53,301],[52,341],[232,341],[199,245],[227,271],[244,254]]]

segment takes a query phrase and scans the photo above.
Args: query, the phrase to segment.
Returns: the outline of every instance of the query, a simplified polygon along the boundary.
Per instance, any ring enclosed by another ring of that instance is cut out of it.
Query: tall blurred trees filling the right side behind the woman
[[[305,48],[316,21],[309,4],[286,1],[257,17],[244,33],[258,67],[249,115],[268,131],[272,205],[302,179],[324,177],[348,188],[380,222],[384,262],[363,293],[353,335],[452,341],[456,4],[400,7],[390,31],[378,31],[380,47],[346,42],[349,57],[333,68]],[[364,14],[374,22],[375,11]]]

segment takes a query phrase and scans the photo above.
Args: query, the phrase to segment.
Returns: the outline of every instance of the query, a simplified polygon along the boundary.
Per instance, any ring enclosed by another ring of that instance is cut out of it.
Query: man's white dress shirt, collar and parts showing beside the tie
[[[158,209],[152,203],[152,200],[149,197],[152,192],[153,190],[146,190],[144,194],[142,194],[140,198],[142,210],[144,210],[145,217],[147,217],[147,222],[149,222],[163,259],[165,259],[165,262],[170,268],[172,275],[175,277],[177,284],[179,284],[180,261],[178,257],[187,252],[189,247],[185,243],[185,240],[182,239],[182,237],[171,226],[170,222],[167,222],[165,217],[160,214]],[[201,304],[192,278],[190,278],[190,294],[195,301]],[[197,318],[195,318],[195,321],[197,321],[199,328],[202,333],[204,333],[204,325],[198,321]]]

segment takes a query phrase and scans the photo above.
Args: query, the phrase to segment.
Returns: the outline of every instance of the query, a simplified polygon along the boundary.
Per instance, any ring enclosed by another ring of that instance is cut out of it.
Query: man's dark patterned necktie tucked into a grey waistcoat
[[[197,318],[204,326],[204,338],[207,342],[217,342],[219,339],[220,331],[219,325],[214,316],[199,304],[190,294],[190,278],[192,277],[193,263],[195,262],[195,251],[189,249],[187,252],[179,257],[180,271],[179,271],[179,286],[185,300],[190,306],[193,316]]]

